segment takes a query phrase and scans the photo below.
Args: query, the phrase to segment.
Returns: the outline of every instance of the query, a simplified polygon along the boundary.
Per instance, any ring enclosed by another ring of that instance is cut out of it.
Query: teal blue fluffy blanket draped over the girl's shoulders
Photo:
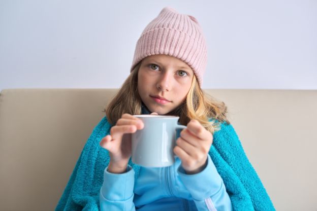
[[[56,210],[99,210],[103,172],[110,159],[108,151],[101,148],[99,142],[109,134],[110,128],[104,117],[93,129]],[[223,178],[234,210],[275,210],[232,125],[222,123],[213,137],[209,154]],[[139,166],[131,160],[129,164],[137,178]]]

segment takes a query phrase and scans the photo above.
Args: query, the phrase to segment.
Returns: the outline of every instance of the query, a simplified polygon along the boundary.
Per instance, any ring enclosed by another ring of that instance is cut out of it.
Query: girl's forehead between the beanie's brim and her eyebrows
[[[175,68],[182,68],[187,70],[192,70],[188,64],[176,57],[164,55],[164,54],[158,54],[158,55],[151,55],[147,56],[143,59],[144,62],[156,62],[160,65],[164,66],[171,66]]]

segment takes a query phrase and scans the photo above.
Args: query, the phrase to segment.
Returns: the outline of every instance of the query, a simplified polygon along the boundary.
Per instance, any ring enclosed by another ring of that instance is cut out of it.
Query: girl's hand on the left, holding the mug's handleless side
[[[116,125],[110,129],[110,134],[101,140],[100,146],[109,151],[109,172],[125,172],[131,157],[131,133],[135,133],[143,127],[144,124],[139,118],[123,114]]]

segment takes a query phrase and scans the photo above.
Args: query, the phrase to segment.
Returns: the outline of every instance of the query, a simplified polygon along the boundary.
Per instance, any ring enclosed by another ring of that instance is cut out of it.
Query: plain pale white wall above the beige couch
[[[314,0],[0,0],[0,90],[120,87],[165,6],[203,27],[203,88],[317,89]]]

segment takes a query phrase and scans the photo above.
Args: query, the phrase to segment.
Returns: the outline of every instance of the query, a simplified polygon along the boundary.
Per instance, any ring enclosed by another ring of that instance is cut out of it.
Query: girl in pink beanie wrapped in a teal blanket
[[[198,21],[164,8],[136,45],[131,74],[106,108],[56,210],[274,210],[227,120],[201,89],[206,42]],[[175,163],[131,162],[135,114],[176,115]]]

